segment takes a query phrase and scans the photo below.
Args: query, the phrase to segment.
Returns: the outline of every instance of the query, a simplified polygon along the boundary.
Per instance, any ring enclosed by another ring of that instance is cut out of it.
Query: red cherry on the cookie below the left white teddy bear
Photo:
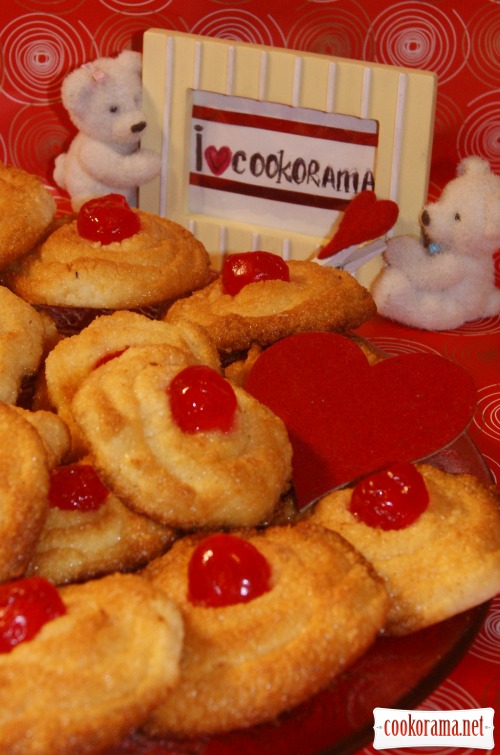
[[[123,241],[141,230],[139,215],[121,194],[89,199],[81,206],[76,223],[82,238],[101,244]]]

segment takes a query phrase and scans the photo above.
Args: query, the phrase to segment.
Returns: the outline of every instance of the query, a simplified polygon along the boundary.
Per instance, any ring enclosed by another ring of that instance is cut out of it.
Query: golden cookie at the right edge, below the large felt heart
[[[490,599],[500,590],[500,494],[476,478],[417,465],[428,508],[409,526],[383,530],[349,511],[351,489],[323,498],[311,519],[346,538],[385,580],[386,632],[407,634]]]

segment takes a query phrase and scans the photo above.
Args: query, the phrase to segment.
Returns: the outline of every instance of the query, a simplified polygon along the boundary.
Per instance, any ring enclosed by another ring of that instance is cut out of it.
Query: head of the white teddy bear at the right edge
[[[500,176],[486,160],[468,157],[436,202],[420,216],[429,251],[491,255],[500,247]]]

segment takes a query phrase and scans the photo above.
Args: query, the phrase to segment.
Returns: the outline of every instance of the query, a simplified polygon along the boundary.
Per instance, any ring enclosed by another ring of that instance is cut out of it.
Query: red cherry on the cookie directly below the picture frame
[[[288,265],[271,252],[242,252],[230,254],[222,266],[222,288],[235,296],[249,283],[263,280],[290,280]]]

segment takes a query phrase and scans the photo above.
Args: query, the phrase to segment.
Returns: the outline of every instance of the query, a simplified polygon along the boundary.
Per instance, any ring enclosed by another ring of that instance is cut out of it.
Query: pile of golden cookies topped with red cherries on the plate
[[[189,232],[128,207],[130,235],[89,238],[19,176],[0,172],[0,200],[15,184],[30,208],[0,221],[3,753],[271,720],[380,634],[499,591],[498,491],[473,477],[389,470],[419,501],[396,526],[359,513],[359,483],[297,510],[290,428],[245,380],[299,332],[381,358],[352,333],[375,306],[350,274],[267,253],[215,273]]]

